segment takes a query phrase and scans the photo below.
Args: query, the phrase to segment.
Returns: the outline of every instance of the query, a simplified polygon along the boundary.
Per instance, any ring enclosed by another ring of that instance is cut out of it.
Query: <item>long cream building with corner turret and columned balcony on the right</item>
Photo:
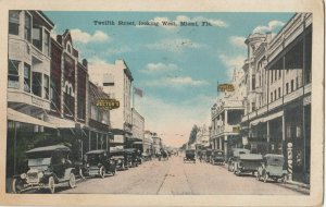
[[[252,151],[286,157],[289,180],[309,182],[312,14],[297,13],[272,39],[252,34],[242,134]]]

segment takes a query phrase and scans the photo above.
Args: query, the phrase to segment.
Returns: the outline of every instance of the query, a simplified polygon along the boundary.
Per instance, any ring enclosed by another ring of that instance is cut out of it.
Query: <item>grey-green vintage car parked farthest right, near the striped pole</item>
[[[287,171],[284,170],[284,156],[275,154],[266,154],[263,158],[262,165],[258,168],[256,180],[263,179],[267,182],[268,179],[274,181],[280,180],[286,182]]]

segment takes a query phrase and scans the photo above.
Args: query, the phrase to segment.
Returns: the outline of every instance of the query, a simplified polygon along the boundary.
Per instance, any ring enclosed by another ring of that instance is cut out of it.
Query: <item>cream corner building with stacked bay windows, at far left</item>
[[[9,11],[7,175],[24,167],[24,149],[38,145],[55,125],[50,110],[50,33],[40,11]]]

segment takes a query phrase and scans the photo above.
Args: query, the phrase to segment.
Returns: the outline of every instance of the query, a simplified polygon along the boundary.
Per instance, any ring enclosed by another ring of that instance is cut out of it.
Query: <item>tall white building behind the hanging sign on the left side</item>
[[[120,101],[120,108],[111,111],[111,125],[115,143],[126,143],[131,137],[131,72],[123,60],[103,68],[90,68],[90,80],[101,86],[111,98]]]

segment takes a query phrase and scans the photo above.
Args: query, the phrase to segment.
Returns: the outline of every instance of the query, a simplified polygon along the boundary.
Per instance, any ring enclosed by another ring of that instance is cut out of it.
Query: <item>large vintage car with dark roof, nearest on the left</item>
[[[76,186],[75,168],[70,161],[71,149],[64,145],[38,147],[26,151],[28,171],[14,175],[13,193],[28,190],[55,192],[60,185]]]

